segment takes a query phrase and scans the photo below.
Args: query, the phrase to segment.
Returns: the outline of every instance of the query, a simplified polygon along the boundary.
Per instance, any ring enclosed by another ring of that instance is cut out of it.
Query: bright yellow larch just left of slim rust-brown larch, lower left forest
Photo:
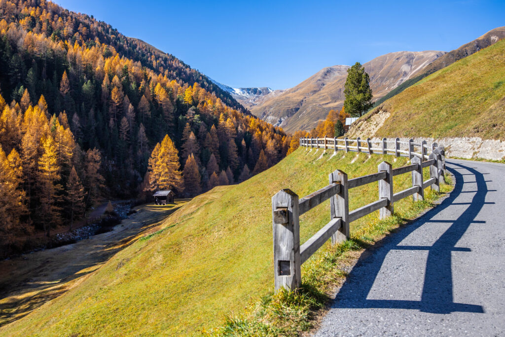
[[[48,136],[42,143],[43,154],[38,160],[38,185],[39,185],[39,218],[44,227],[46,236],[49,236],[51,226],[60,222],[59,192],[62,186],[58,183],[58,156],[55,142]]]

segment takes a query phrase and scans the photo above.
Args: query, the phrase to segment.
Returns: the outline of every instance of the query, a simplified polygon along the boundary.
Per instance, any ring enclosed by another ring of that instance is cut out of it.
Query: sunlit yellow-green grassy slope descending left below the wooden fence
[[[318,159],[321,154],[298,149],[239,185],[194,198],[167,218],[162,231],[117,253],[65,295],[0,328],[0,335],[191,335],[220,325],[225,315],[241,313],[251,299],[272,291],[270,200],[280,188],[302,197],[327,185],[336,168],[352,178],[376,172],[382,160],[393,166],[407,162],[343,152]],[[411,185],[410,175],[396,178],[395,191]],[[376,200],[376,183],[352,189],[350,198],[351,210]],[[409,204],[404,200],[395,210]],[[376,217],[351,223],[351,231]],[[301,241],[328,220],[328,201],[304,214]]]

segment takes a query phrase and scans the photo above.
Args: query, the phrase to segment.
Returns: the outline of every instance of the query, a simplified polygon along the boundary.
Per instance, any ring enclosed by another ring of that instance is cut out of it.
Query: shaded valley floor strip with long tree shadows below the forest
[[[119,250],[155,230],[184,205],[143,205],[114,230],[71,245],[0,261],[0,326],[29,314],[72,288],[82,276],[97,270]]]

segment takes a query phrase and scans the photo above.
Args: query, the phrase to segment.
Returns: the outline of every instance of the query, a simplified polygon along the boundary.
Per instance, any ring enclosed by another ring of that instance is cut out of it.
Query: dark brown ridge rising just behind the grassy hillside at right
[[[408,88],[412,84],[420,81],[421,79],[425,78],[429,74],[432,74],[435,71],[445,68],[448,65],[450,65],[458,60],[461,60],[469,55],[472,55],[472,54],[480,51],[481,49],[484,49],[484,48],[490,46],[491,44],[496,43],[497,41],[501,40],[503,37],[505,37],[505,27],[498,27],[498,28],[488,31],[487,33],[476,38],[475,40],[462,45],[458,49],[450,51],[449,53],[447,53],[447,54],[439,57],[435,61],[433,61],[429,66],[427,66],[423,71],[418,73],[415,77],[411,77],[411,79],[398,85],[398,87],[391,90],[389,93],[384,95],[384,97],[377,100],[375,102],[375,106],[379,106],[387,99],[389,99],[389,98],[393,97],[395,94],[405,90],[406,88]]]

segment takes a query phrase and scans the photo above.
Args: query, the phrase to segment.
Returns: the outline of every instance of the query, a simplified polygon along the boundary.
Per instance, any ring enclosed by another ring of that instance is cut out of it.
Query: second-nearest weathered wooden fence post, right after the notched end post
[[[330,184],[340,182],[340,191],[330,198],[330,217],[341,218],[340,228],[331,235],[331,244],[335,245],[349,238],[349,196],[347,192],[347,174],[335,170],[329,174]]]

